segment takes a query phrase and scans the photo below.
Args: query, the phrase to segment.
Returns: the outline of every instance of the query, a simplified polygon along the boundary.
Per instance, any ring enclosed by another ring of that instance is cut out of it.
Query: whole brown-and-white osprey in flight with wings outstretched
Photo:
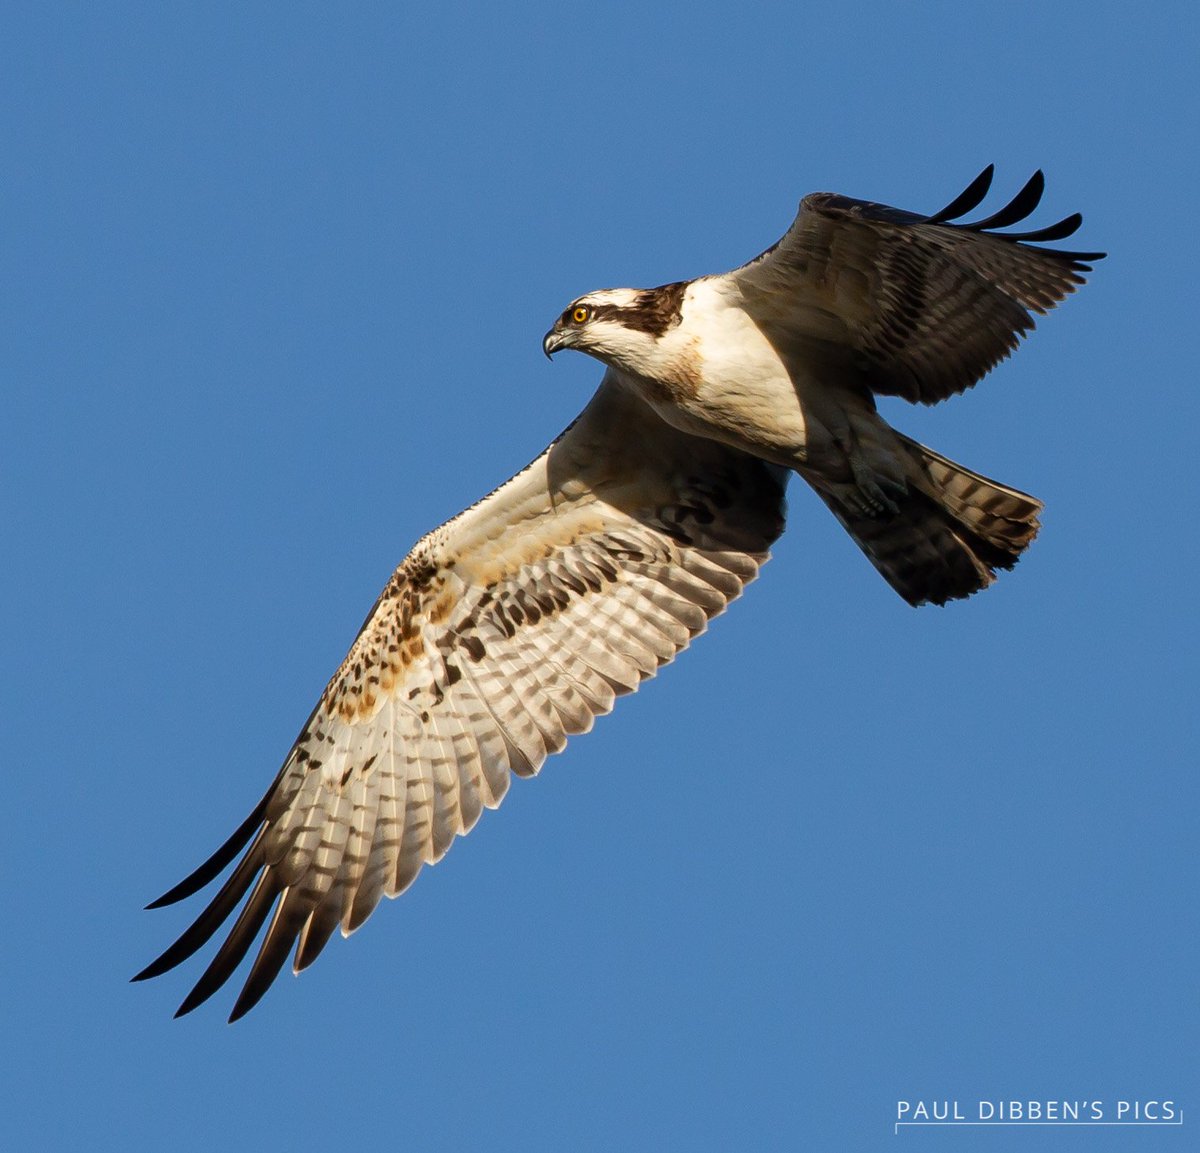
[[[932,404],[976,384],[1091,271],[1043,246],[1075,214],[1006,232],[992,169],[919,216],[816,193],[749,264],[575,300],[546,334],[607,366],[528,468],[420,540],[395,571],[283,767],[238,830],[151,907],[238,860],[136,980],[203,947],[240,905],[179,1008],[230,977],[270,919],[230,1020],[293,947],[299,972],[406,889],[512,774],[536,773],[653,677],[755,578],[798,473],[911,605],[970,596],[1010,568],[1040,503],[917,444],[878,395]]]

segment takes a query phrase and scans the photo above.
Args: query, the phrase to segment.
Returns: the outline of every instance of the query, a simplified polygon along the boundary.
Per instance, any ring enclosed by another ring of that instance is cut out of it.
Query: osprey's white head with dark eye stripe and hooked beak
[[[541,342],[552,356],[574,348],[629,372],[653,372],[659,338],[679,324],[686,282],[661,288],[606,288],[571,301]]]

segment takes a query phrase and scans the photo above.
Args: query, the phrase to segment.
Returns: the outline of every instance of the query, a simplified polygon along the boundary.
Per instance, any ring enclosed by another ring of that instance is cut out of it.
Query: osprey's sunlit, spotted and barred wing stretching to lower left
[[[293,945],[299,971],[338,925],[361,925],[499,804],[512,773],[536,773],[754,579],[784,527],[785,480],[662,424],[610,372],[533,464],[413,548],[266,795],[151,906],[242,854],[134,979],[191,956],[245,899],[179,1009],[228,980],[270,917],[235,1020]]]

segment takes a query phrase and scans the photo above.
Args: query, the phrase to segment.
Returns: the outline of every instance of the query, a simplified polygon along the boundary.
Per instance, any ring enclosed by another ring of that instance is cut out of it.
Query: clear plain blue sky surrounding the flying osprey
[[[0,1143],[1192,1146],[1195,6],[420,7],[5,7]],[[1046,502],[1013,574],[911,609],[794,484],[744,601],[352,942],[233,1027],[172,1020],[199,959],[127,983],[409,545],[590,395],[572,296],[992,161],[1111,256],[887,413]],[[893,1135],[1012,1098],[1186,1122]]]

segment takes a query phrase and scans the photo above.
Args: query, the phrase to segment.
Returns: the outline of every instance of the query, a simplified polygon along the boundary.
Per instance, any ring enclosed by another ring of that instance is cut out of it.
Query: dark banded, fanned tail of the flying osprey
[[[871,564],[910,605],[970,596],[1037,536],[1042,502],[895,434],[907,454],[898,511],[871,516],[817,487]]]

